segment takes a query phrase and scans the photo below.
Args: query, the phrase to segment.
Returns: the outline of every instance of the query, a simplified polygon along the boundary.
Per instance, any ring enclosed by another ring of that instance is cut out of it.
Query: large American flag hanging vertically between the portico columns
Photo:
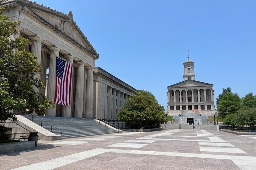
[[[73,64],[57,57],[54,103],[70,106]]]

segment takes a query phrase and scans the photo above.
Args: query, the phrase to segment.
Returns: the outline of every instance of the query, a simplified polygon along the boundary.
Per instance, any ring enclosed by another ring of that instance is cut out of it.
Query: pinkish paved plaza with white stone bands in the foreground
[[[123,132],[39,141],[0,156],[0,169],[256,169],[256,138],[216,130]]]

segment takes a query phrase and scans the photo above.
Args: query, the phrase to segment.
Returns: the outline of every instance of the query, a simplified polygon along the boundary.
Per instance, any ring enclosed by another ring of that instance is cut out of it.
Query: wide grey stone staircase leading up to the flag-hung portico
[[[24,117],[29,120],[32,119],[30,115],[24,115]],[[116,133],[116,131],[95,122],[93,119],[33,116],[33,122],[54,134],[61,135],[62,131],[62,139]]]

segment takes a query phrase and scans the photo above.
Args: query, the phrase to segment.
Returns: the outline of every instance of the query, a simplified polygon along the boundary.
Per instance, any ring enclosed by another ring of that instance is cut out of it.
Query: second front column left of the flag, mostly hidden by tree
[[[32,40],[31,53],[37,56],[37,62],[41,64],[41,53],[42,53],[42,40],[39,37],[30,37]],[[36,74],[35,78],[40,79],[40,74]],[[39,92],[39,89],[34,87],[34,91]]]

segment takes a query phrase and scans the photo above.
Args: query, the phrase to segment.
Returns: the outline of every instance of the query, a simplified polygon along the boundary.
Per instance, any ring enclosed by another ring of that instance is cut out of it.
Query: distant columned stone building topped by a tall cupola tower
[[[167,87],[168,113],[202,113],[214,112],[213,84],[195,80],[194,62],[188,57],[184,65],[184,81]]]

